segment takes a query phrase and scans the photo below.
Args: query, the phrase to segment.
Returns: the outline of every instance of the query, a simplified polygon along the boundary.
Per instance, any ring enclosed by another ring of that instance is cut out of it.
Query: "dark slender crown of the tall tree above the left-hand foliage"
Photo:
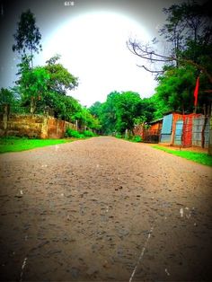
[[[39,28],[36,26],[36,19],[31,10],[21,14],[20,22],[15,34],[13,34],[15,44],[13,44],[13,51],[18,51],[22,55],[31,56],[31,67],[33,67],[33,53],[41,50],[41,34]]]

